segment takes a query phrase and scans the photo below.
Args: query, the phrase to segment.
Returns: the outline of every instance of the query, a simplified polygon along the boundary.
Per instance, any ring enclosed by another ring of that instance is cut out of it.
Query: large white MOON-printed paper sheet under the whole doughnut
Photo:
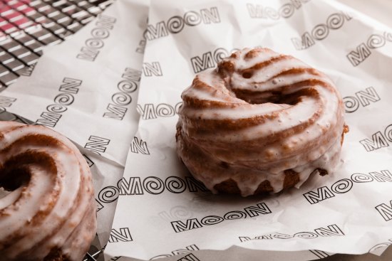
[[[115,188],[106,259],[257,260],[273,250],[268,260],[312,260],[390,245],[391,32],[336,1],[152,0],[138,146]],[[212,195],[177,159],[180,94],[196,73],[254,46],[294,55],[336,83],[350,127],[342,162],[278,195]]]

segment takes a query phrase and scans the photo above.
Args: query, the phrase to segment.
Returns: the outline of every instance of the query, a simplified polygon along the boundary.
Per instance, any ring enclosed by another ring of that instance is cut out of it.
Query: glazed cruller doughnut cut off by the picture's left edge
[[[0,122],[0,260],[81,261],[96,235],[86,160],[42,126]]]

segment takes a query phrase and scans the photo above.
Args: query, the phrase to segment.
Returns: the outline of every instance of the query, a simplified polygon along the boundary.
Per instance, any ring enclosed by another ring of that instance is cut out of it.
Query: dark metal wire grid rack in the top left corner
[[[114,0],[0,0],[0,91]]]

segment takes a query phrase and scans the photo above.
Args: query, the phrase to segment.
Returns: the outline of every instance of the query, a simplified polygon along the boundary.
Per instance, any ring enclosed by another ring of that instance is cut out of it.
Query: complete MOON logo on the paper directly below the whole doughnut
[[[256,206],[249,206],[244,208],[243,211],[229,211],[223,215],[207,215],[204,218],[190,218],[185,220],[176,220],[170,222],[175,233],[184,232],[187,230],[192,230],[196,228],[202,228],[204,225],[216,225],[225,220],[235,220],[242,218],[254,218],[260,214],[265,215],[272,213],[266,203],[257,203]]]

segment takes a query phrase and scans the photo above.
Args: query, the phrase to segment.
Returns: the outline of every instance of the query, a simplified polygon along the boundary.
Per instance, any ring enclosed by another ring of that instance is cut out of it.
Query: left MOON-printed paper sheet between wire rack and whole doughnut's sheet
[[[138,127],[147,17],[148,1],[115,1],[76,35],[46,48],[31,75],[0,96],[0,107],[55,129],[86,157],[96,192],[97,247],[108,242],[117,199],[113,186],[123,176]]]

